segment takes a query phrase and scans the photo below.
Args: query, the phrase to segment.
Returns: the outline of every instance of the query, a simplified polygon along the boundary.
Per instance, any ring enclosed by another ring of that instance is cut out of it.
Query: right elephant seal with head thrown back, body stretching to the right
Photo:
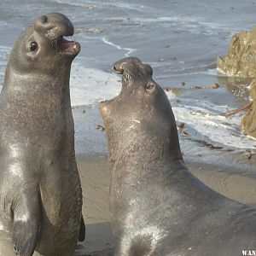
[[[129,57],[113,70],[122,74],[121,92],[99,109],[115,255],[234,256],[256,249],[255,210],[208,188],[184,165],[172,108],[152,68]]]

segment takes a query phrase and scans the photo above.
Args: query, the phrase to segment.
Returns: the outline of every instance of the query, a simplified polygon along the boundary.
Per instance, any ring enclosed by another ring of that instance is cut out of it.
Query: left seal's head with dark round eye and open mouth
[[[55,73],[70,66],[80,45],[63,37],[72,36],[73,24],[65,15],[49,13],[38,17],[15,42],[9,61],[19,73]]]

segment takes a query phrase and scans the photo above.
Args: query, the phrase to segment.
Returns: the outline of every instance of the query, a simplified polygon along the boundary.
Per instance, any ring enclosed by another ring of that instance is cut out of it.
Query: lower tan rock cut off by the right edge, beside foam
[[[241,131],[248,136],[256,138],[256,79],[253,79],[250,88],[250,97],[253,100],[253,105],[247,109],[246,114],[241,119]]]

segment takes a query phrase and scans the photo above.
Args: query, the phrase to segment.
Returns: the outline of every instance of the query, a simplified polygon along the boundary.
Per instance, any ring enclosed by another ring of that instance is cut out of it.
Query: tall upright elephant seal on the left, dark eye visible
[[[9,56],[0,95],[1,256],[73,255],[84,238],[69,93],[80,45],[63,38],[72,35],[65,15],[42,15]]]

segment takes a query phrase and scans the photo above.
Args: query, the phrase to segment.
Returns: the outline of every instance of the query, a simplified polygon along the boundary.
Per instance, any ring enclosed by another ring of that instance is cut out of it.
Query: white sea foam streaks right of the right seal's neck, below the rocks
[[[175,97],[167,93],[171,102]],[[256,149],[256,141],[241,134],[241,115],[229,117],[220,115],[227,106],[217,106],[207,101],[182,100],[180,105],[172,106],[175,119],[194,129],[206,142],[219,143],[226,148]],[[206,108],[207,107],[207,108]]]

